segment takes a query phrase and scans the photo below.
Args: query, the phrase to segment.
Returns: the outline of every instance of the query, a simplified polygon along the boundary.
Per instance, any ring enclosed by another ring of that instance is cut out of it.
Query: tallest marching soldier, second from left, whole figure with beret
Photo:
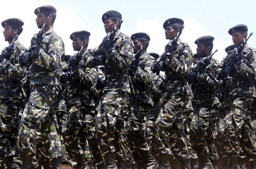
[[[64,44],[53,31],[55,7],[37,7],[34,13],[37,15],[37,27],[41,30],[31,40],[32,53],[21,56],[24,63],[31,65],[31,93],[21,119],[22,169],[32,167],[32,157],[36,155],[37,147],[41,155],[49,156],[52,167],[56,169],[62,160],[53,101],[60,89],[56,70],[64,55]],[[48,162],[41,163],[49,165]]]

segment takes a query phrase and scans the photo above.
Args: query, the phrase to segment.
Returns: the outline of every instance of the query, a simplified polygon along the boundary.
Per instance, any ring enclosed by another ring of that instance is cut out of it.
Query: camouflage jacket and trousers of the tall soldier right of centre
[[[189,45],[180,39],[177,41],[176,54],[169,60],[165,53],[154,61],[152,68],[159,61],[164,61],[165,86],[162,95],[163,108],[156,121],[156,137],[154,139],[157,151],[161,155],[173,155],[180,161],[190,159],[184,133],[184,118],[191,109],[189,96],[192,93],[186,76],[190,72],[193,54]]]

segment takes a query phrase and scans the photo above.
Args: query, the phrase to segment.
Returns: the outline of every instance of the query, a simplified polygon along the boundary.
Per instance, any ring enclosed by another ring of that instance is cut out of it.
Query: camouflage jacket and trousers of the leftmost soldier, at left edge
[[[26,97],[21,81],[26,69],[18,63],[18,55],[25,53],[26,48],[16,40],[13,49],[10,59],[0,62],[3,75],[0,85],[0,156],[4,158],[7,168],[10,168],[13,159],[21,165],[18,130]]]

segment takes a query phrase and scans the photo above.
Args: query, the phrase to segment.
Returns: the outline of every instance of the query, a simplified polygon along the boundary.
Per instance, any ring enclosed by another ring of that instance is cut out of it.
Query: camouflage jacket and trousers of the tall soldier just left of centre
[[[107,50],[101,43],[91,51],[93,56],[100,50],[106,50],[106,85],[102,104],[96,117],[96,133],[100,151],[104,158],[121,148],[121,160],[130,158],[127,139],[124,133],[124,114],[127,110],[128,93],[131,93],[127,69],[132,62],[132,40],[118,30],[114,36],[113,50]],[[115,141],[115,139],[117,141]]]

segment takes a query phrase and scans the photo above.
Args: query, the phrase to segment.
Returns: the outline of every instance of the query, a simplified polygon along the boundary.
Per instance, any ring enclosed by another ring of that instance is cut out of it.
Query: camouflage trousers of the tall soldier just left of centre
[[[124,115],[127,111],[127,93],[109,90],[103,95],[96,116],[96,134],[102,156],[117,152],[121,160],[131,158],[130,149],[124,131]]]

